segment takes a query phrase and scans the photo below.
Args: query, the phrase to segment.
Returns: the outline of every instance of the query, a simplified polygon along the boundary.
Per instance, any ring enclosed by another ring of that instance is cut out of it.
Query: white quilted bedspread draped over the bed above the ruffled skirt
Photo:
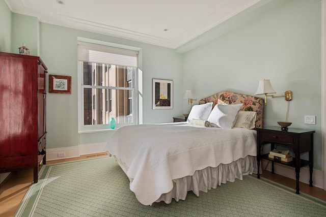
[[[183,122],[126,126],[116,131],[104,150],[125,163],[130,190],[140,203],[150,205],[172,190],[174,179],[256,156],[256,131]]]

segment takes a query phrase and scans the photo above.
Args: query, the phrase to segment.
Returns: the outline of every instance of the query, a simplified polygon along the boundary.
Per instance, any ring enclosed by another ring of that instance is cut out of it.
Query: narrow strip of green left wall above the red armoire
[[[8,8],[5,1],[0,0],[0,52],[10,52],[10,51],[11,51],[11,11]]]

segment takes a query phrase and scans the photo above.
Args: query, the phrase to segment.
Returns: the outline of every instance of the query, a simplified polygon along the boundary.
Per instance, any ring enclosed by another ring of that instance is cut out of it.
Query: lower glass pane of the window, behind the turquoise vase
[[[132,123],[132,90],[84,88],[84,125]]]

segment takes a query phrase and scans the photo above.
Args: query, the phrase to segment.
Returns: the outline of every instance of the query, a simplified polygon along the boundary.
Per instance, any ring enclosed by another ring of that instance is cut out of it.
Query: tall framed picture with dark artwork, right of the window
[[[153,109],[173,109],[173,81],[153,79]]]

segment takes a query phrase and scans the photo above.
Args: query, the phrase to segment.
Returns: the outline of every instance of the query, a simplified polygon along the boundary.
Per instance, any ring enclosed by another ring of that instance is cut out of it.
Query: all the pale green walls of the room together
[[[111,132],[78,134],[77,37],[141,48],[143,123],[171,122],[188,113],[183,100],[192,89],[198,100],[221,90],[254,95],[258,81],[270,79],[277,91],[293,91],[291,127],[312,129],[314,168],[321,169],[321,3],[295,0],[184,54],[173,49],[41,23],[11,13],[0,1],[0,51],[17,53],[22,43],[39,55],[48,74],[72,77],[72,94],[47,94],[47,148],[106,142]],[[23,34],[21,34],[23,32]],[[174,109],[152,110],[152,79],[174,82]],[[265,126],[285,120],[287,102],[268,98]],[[316,125],[304,124],[316,115]]]

